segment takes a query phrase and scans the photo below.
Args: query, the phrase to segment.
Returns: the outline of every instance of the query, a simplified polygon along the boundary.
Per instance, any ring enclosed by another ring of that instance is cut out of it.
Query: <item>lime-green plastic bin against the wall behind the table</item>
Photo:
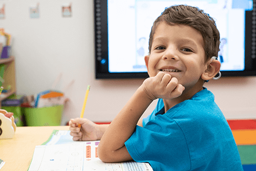
[[[23,108],[27,126],[59,126],[63,105],[44,108]]]

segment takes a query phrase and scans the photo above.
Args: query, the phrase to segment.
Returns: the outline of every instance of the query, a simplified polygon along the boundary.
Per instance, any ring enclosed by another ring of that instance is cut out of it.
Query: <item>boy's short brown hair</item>
[[[177,5],[166,8],[162,14],[155,20],[151,33],[148,50],[151,52],[153,36],[160,22],[166,22],[169,25],[182,24],[190,26],[200,31],[204,40],[204,51],[206,60],[212,56],[218,57],[220,46],[220,32],[212,17],[204,13],[197,7],[187,5]]]

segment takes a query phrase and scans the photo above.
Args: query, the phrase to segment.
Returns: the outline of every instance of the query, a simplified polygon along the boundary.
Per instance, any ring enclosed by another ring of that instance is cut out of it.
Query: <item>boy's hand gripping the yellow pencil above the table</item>
[[[81,127],[77,127],[78,124],[81,124]],[[95,141],[98,140],[98,125],[88,119],[76,118],[70,119],[69,121],[70,135],[73,136],[74,141]]]

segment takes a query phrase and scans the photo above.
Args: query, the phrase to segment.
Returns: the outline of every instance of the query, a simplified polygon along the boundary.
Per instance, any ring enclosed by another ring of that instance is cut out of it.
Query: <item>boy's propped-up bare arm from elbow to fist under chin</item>
[[[132,160],[124,142],[133,134],[148,105],[156,98],[178,97],[183,90],[176,78],[171,79],[170,75],[163,72],[147,78],[105,131],[98,146],[99,158],[104,162]]]

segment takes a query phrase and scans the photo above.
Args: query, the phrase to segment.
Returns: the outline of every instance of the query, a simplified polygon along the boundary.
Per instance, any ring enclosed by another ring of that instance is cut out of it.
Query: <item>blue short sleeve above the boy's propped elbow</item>
[[[189,170],[191,167],[182,130],[164,115],[157,115],[144,127],[136,126],[125,146],[135,161],[148,162],[154,170]]]

